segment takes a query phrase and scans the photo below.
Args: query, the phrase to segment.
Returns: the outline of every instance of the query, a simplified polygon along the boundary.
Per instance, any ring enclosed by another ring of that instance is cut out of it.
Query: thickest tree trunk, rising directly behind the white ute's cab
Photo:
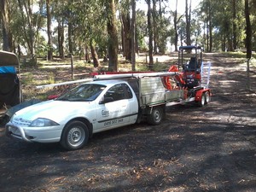
[[[106,10],[108,13],[108,70],[117,71],[118,69],[118,33],[115,19],[115,1],[106,0]]]

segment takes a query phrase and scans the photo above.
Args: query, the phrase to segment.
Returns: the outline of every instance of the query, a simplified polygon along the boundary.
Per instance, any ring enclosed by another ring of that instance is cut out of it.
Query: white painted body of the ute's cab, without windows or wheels
[[[87,84],[102,84],[106,88],[91,102],[51,100],[40,102],[16,112],[6,125],[8,134],[26,142],[55,143],[61,141],[61,133],[73,119],[86,119],[92,133],[115,127],[134,124],[137,120],[138,102],[130,85],[125,81],[96,81]],[[101,103],[106,92],[117,84],[126,84],[132,97]],[[35,119],[49,119],[55,125],[32,126]]]

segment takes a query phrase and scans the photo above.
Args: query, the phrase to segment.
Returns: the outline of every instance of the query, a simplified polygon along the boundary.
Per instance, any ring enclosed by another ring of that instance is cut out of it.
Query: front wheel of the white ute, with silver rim
[[[61,146],[67,150],[83,148],[88,142],[89,131],[87,125],[81,121],[68,123],[61,134]]]

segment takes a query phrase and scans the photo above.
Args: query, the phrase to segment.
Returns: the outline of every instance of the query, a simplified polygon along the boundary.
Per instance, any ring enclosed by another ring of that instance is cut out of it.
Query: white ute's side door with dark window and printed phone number
[[[126,84],[113,85],[104,95],[105,103],[99,103],[96,131],[103,131],[129,124],[131,103],[125,90]]]

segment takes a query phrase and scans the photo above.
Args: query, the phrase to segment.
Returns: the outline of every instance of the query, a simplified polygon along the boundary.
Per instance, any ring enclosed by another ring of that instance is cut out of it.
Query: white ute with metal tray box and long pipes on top
[[[96,77],[54,100],[16,112],[6,125],[6,136],[26,142],[60,142],[63,148],[75,150],[83,148],[93,133],[139,123],[143,117],[158,125],[165,119],[166,103],[195,101],[183,89],[167,90],[163,83],[167,75],[175,73]],[[206,98],[199,100],[205,104]]]

